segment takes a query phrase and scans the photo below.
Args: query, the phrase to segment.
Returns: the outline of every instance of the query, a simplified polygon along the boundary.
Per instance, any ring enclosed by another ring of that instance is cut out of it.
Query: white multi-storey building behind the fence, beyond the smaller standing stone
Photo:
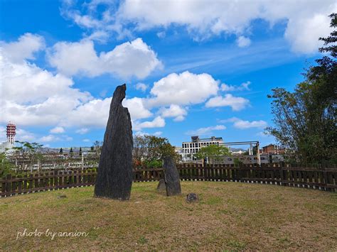
[[[200,148],[210,145],[219,146],[223,144],[223,138],[212,136],[210,138],[199,138],[192,136],[191,142],[183,142],[181,148],[181,157],[183,161],[193,160],[194,155],[199,152]]]

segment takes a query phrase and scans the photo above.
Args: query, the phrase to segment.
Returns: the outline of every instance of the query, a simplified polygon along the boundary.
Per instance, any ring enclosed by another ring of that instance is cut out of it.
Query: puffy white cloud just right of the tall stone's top
[[[198,104],[218,92],[218,82],[208,74],[196,75],[191,72],[172,73],[154,82],[147,100],[149,106],[166,106],[171,104]]]

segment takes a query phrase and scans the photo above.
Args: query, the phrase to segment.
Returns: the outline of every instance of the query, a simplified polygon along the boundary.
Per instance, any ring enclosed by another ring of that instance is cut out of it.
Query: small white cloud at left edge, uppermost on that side
[[[0,43],[3,52],[11,62],[22,62],[22,60],[33,60],[34,53],[45,48],[45,40],[40,35],[25,33],[12,43]]]

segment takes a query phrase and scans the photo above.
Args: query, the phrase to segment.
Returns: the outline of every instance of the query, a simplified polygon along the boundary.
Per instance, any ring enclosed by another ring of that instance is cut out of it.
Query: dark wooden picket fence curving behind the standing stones
[[[259,182],[290,187],[337,191],[336,168],[291,168],[282,165],[178,165],[181,180]],[[97,172],[92,170],[58,171],[34,175],[7,175],[0,180],[0,197],[30,192],[59,190],[95,185]],[[164,170],[140,169],[133,172],[134,182],[164,178]]]

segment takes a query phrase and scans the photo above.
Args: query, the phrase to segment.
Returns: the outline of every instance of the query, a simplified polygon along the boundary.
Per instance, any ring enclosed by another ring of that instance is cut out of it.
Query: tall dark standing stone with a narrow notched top
[[[127,200],[132,187],[132,125],[122,106],[126,84],[114,90],[97,170],[95,196]]]

